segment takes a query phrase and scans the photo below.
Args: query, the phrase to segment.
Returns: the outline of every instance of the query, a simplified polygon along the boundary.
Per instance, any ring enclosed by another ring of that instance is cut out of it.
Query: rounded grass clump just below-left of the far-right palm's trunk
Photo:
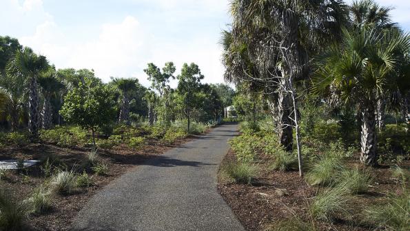
[[[371,180],[370,172],[359,168],[344,169],[340,173],[340,185],[346,187],[352,194],[367,192]]]

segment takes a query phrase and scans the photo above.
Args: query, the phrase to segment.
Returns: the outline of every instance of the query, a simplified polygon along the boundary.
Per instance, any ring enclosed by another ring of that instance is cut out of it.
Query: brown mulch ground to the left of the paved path
[[[131,150],[126,145],[115,147],[112,150],[99,150],[101,163],[107,165],[106,176],[92,174],[93,184],[89,188],[81,188],[69,195],[54,195],[52,198],[52,210],[40,215],[30,215],[28,230],[68,230],[70,223],[76,214],[83,208],[85,203],[105,185],[121,176],[125,172],[136,168],[147,159],[163,154],[167,150],[186,143],[194,137],[188,137],[176,141],[172,145],[160,140],[150,139],[147,145],[140,150]],[[90,148],[60,148],[51,144],[30,144],[23,147],[12,146],[0,148],[0,160],[6,159],[42,159],[47,154],[54,154],[61,162],[67,165],[68,170],[87,157]],[[5,188],[18,200],[27,199],[39,185],[44,183],[42,170],[39,165],[24,172],[10,170],[6,177],[0,181],[0,189]]]

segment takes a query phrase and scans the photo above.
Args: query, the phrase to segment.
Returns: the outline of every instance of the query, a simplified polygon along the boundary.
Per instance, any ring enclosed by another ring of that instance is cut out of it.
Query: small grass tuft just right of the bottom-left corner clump
[[[28,202],[30,203],[30,212],[34,214],[41,214],[52,207],[50,193],[45,190],[43,185],[34,189]]]

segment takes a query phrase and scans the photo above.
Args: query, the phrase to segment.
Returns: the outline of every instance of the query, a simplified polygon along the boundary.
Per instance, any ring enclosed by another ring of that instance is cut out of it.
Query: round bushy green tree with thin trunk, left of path
[[[115,112],[113,89],[103,83],[95,83],[88,77],[68,92],[60,110],[60,114],[69,123],[91,130],[94,148],[96,130],[112,122]]]

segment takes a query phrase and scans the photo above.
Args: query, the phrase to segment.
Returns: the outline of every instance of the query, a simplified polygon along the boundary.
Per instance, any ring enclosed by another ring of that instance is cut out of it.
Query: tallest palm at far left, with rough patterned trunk
[[[7,67],[8,74],[21,74],[28,78],[28,130],[31,135],[31,141],[36,140],[39,136],[39,94],[37,92],[37,78],[46,68],[48,68],[47,59],[35,54],[30,48],[17,51],[14,59],[8,63]]]

